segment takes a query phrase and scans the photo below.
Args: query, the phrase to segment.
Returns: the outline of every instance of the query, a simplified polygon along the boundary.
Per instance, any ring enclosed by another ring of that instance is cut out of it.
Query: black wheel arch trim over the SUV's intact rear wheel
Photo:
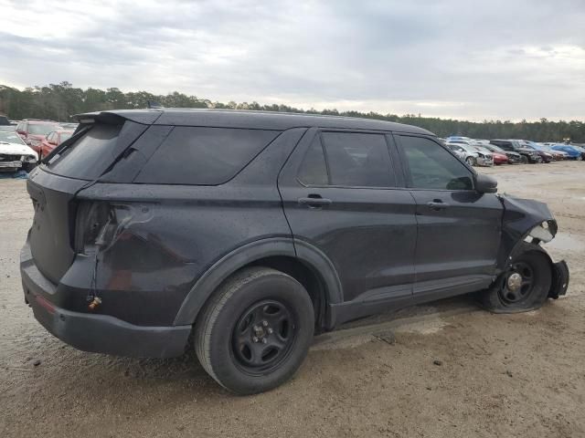
[[[200,310],[216,289],[229,276],[246,266],[268,266],[293,276],[307,289],[314,301],[317,328],[326,330],[332,327],[330,305],[343,302],[335,266],[313,245],[293,241],[290,237],[254,241],[220,258],[197,279],[183,300],[174,325],[194,324]]]

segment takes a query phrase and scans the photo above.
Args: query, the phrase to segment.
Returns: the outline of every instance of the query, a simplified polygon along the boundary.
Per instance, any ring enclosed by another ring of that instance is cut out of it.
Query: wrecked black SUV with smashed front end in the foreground
[[[477,292],[516,312],[566,292],[543,203],[495,194],[427,130],[235,110],[83,114],[34,172],[27,303],[88,351],[195,346],[218,383],[266,391],[314,333]]]

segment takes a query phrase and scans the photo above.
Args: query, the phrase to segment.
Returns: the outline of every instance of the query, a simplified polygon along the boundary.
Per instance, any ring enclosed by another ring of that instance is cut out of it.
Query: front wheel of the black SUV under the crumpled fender
[[[552,282],[550,261],[530,246],[526,244],[495,284],[480,293],[484,308],[494,313],[519,313],[540,308],[547,301]]]

